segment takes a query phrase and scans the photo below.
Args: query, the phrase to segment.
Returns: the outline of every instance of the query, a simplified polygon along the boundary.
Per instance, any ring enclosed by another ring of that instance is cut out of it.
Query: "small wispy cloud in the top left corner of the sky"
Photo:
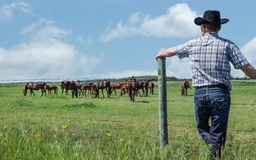
[[[3,6],[0,6],[0,21],[11,20],[15,11],[29,13],[30,6],[23,1],[3,4]]]

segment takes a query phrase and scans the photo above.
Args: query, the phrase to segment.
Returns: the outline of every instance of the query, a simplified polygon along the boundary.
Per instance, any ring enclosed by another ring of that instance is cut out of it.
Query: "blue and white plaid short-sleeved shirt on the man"
[[[236,69],[248,64],[236,44],[215,32],[205,33],[174,50],[180,59],[189,58],[193,86],[225,84],[231,90],[229,61]]]

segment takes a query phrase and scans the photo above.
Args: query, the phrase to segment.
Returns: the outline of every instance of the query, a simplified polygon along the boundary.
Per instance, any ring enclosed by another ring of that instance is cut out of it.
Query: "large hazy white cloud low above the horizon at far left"
[[[23,30],[23,33],[29,31],[31,29]],[[69,33],[46,22],[36,29],[30,42],[9,49],[0,48],[1,78],[70,77],[92,72],[100,58],[86,56],[74,45],[62,42],[61,39]]]

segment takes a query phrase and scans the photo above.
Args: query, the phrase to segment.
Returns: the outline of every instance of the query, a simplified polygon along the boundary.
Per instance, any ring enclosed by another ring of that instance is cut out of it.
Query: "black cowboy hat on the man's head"
[[[217,10],[207,10],[204,12],[203,17],[197,17],[194,22],[196,25],[201,26],[202,24],[225,24],[228,19],[220,19],[220,12]]]

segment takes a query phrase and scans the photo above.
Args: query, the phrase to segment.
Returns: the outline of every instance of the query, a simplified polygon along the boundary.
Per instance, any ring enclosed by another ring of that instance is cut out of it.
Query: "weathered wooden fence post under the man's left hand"
[[[166,99],[166,67],[165,58],[157,58],[159,88],[159,132],[160,147],[168,145],[167,99]]]

